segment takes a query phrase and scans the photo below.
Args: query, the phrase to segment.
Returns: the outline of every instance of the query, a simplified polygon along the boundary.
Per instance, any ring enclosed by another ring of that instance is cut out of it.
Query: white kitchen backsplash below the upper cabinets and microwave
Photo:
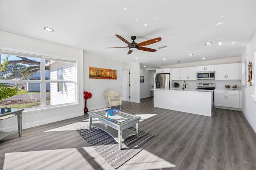
[[[173,80],[170,87],[174,87],[173,83],[179,83],[180,87],[183,87],[182,80]],[[230,85],[232,89],[233,85],[237,85],[237,90],[241,89],[241,80],[186,80],[189,89],[196,89],[198,83],[215,83],[215,89],[225,89],[225,85]]]

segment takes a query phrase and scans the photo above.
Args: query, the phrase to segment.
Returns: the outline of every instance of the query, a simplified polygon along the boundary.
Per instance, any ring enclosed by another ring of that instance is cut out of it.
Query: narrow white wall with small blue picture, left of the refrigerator
[[[140,99],[149,97],[149,82],[148,82],[148,70],[141,67],[140,76],[144,76],[144,83],[140,83]]]

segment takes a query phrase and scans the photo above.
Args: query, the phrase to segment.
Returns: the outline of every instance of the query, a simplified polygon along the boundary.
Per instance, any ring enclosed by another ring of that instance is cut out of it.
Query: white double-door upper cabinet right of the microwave
[[[238,80],[239,63],[215,65],[215,80]]]

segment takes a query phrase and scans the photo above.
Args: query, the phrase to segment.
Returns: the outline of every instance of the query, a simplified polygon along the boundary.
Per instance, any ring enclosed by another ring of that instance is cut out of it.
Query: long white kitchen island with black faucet
[[[212,116],[213,90],[154,89],[154,107]]]

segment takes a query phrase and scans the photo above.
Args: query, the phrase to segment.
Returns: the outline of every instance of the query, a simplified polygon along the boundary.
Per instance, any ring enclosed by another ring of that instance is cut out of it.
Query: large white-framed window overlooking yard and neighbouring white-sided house
[[[18,87],[0,107],[40,109],[77,103],[76,60],[1,51],[0,83]]]

